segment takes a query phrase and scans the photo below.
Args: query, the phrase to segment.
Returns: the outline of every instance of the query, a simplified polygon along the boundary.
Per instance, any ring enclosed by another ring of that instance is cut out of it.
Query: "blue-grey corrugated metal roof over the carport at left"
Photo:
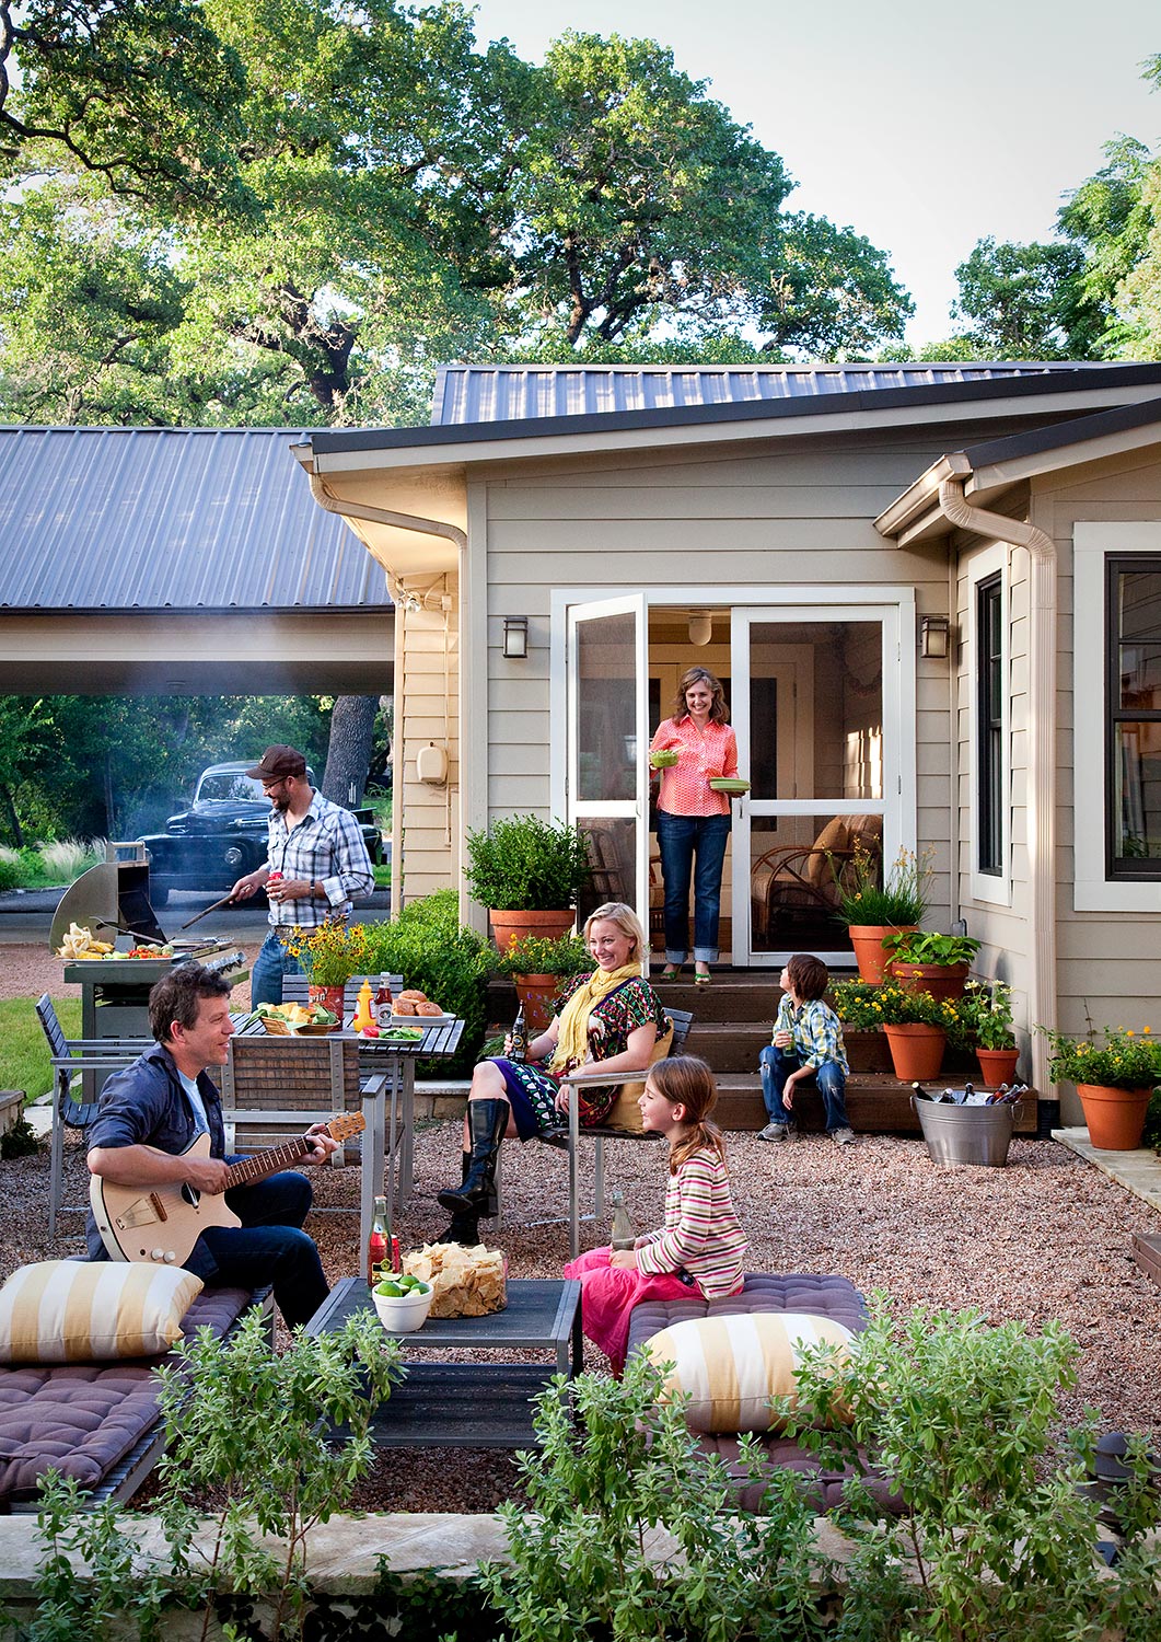
[[[294,429],[0,429],[0,608],[389,608]]]

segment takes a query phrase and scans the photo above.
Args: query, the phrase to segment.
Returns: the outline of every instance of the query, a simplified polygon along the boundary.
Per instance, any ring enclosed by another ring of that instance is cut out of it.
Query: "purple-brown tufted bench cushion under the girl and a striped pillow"
[[[683,1322],[686,1317],[723,1317],[737,1312],[808,1312],[813,1317],[831,1317],[844,1323],[852,1333],[859,1333],[867,1325],[867,1305],[846,1277],[815,1277],[803,1273],[787,1276],[769,1276],[765,1273],[747,1273],[741,1294],[727,1300],[703,1300],[696,1291],[691,1297],[680,1300],[645,1300],[634,1307],[629,1320],[629,1351],[637,1350],[650,1335]],[[736,1435],[703,1432],[698,1442],[706,1453],[719,1455],[729,1470],[737,1489],[737,1502],[746,1511],[759,1511],[762,1504],[762,1484],[752,1483],[737,1463],[739,1440]],[[813,1453],[796,1442],[788,1442],[777,1432],[755,1438],[765,1452],[772,1466],[788,1466],[810,1479],[811,1496],[818,1511],[829,1511],[839,1502],[842,1483],[849,1471],[826,1471]],[[885,1511],[898,1512],[903,1501],[890,1488],[890,1483],[875,1475],[865,1465],[862,1471],[867,1488]]]

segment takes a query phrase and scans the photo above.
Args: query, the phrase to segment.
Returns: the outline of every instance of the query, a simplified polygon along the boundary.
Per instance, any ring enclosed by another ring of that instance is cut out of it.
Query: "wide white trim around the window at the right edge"
[[[1161,521],[1072,527],[1072,906],[1079,913],[1158,913],[1159,883],[1105,877],[1105,560],[1161,552]],[[1097,762],[1097,780],[1089,778]]]

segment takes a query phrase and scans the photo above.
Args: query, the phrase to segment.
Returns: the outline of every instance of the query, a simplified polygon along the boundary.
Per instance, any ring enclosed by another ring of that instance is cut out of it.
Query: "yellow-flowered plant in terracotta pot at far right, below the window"
[[[1141,1144],[1145,1113],[1161,1084],[1161,1044],[1146,1026],[1136,1033],[1125,1026],[1110,1031],[1104,1043],[1089,1023],[1084,1038],[1038,1026],[1048,1038],[1048,1074],[1054,1084],[1076,1084],[1097,1151],[1133,1151]]]

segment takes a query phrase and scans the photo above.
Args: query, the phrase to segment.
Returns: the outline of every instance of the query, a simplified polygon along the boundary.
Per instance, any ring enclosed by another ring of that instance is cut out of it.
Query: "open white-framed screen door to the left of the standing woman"
[[[626,901],[649,929],[649,665],[644,594],[568,609],[568,819],[588,836],[580,921]],[[642,952],[649,964],[649,952]]]

